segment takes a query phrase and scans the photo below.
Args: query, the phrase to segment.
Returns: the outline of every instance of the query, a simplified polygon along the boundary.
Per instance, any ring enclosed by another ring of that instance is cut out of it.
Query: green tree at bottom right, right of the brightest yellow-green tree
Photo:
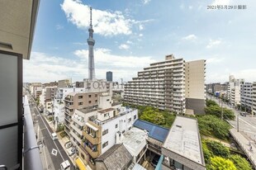
[[[252,170],[253,168],[250,166],[249,162],[239,156],[238,154],[233,154],[230,156],[230,160],[235,164],[237,170]]]

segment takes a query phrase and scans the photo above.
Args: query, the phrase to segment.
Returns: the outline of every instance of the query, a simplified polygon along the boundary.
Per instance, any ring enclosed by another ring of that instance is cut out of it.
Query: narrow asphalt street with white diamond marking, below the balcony
[[[45,147],[45,149],[41,148],[41,152],[43,152],[44,154],[43,156],[41,156],[41,158],[45,170],[59,170],[60,163],[63,163],[65,160],[69,160],[69,163],[71,164],[71,169],[74,169],[72,162],[69,159],[69,156],[65,153],[61,144],[59,144],[59,141],[53,141],[51,139],[50,135],[53,133],[53,130],[50,129],[50,125],[48,125],[47,121],[45,120],[45,117],[40,115],[38,109],[36,108],[35,102],[33,101],[31,101],[31,114],[36,115],[36,126],[39,126],[38,131],[36,130],[36,133],[38,133],[38,139],[44,139],[43,147]]]

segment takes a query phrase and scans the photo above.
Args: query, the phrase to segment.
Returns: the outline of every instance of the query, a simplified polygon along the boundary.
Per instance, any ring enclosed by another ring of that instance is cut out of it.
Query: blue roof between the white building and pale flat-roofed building
[[[150,138],[157,139],[163,143],[169,131],[167,128],[155,125],[145,120],[136,120],[133,125],[141,130],[147,130]]]

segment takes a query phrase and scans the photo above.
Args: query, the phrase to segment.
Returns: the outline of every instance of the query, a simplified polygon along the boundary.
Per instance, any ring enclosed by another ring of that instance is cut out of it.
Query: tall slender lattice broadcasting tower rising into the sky
[[[90,27],[89,31],[89,38],[87,40],[88,47],[89,47],[89,54],[88,54],[88,77],[89,79],[95,78],[95,70],[94,70],[94,55],[93,55],[93,46],[95,44],[95,40],[93,40],[93,29],[92,29],[92,7],[90,7]]]

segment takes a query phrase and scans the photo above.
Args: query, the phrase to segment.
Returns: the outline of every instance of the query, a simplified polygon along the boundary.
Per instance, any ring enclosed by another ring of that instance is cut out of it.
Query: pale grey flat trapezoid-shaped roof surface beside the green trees
[[[163,148],[204,165],[196,119],[177,116]]]

